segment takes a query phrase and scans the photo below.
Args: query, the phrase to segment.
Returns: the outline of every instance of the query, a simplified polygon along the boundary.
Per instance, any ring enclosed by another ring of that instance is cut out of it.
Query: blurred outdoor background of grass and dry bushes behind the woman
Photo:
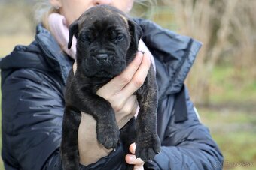
[[[35,0],[0,0],[0,57],[35,34]],[[255,0],[157,0],[133,16],[203,42],[186,84],[224,169],[256,169]],[[4,169],[0,159],[0,169]]]

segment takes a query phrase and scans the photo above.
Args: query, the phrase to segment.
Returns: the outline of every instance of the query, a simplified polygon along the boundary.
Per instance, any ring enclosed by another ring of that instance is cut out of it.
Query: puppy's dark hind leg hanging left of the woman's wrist
[[[79,169],[78,155],[78,127],[81,121],[81,112],[66,108],[62,121],[62,142],[60,145],[62,165],[65,170]]]

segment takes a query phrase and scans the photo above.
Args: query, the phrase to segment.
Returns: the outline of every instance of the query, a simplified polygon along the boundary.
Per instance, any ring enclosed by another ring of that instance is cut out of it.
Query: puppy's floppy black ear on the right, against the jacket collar
[[[131,36],[130,50],[136,52],[138,50],[139,40],[142,37],[142,28],[132,19],[128,19],[128,25]]]

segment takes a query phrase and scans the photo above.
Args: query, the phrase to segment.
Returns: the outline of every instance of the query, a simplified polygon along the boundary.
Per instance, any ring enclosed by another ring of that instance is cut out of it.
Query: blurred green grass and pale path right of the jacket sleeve
[[[248,79],[247,72],[230,65],[215,67],[211,104],[198,108],[224,154],[224,169],[256,168],[256,80]]]

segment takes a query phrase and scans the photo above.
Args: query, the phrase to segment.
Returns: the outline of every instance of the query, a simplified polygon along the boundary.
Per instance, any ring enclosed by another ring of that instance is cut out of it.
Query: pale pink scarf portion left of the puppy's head
[[[49,27],[50,32],[59,43],[61,49],[75,59],[77,40],[73,37],[71,49],[68,49],[69,28],[67,26],[66,18],[59,13],[51,13],[49,16]]]

